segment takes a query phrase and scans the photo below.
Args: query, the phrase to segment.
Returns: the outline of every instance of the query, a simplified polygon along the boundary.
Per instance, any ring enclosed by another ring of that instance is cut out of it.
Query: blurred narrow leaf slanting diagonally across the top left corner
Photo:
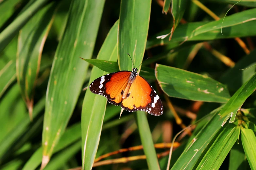
[[[8,27],[0,33],[0,53],[26,22],[49,0],[37,0],[23,11]]]

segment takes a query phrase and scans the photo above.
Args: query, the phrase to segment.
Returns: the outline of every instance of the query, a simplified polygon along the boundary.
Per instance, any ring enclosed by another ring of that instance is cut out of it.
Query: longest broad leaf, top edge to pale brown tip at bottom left
[[[46,93],[43,124],[43,169],[64,133],[77,103],[91,58],[104,1],[74,0],[70,6],[64,35],[58,45]],[[90,24],[88,24],[90,23]]]

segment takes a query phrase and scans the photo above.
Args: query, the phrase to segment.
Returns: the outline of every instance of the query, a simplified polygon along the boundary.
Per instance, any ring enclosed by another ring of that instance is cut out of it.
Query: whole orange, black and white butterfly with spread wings
[[[109,103],[121,106],[129,112],[142,110],[154,116],[162,115],[161,99],[147,80],[137,74],[137,71],[134,66],[132,71],[118,71],[104,75],[95,79],[89,89],[95,94],[106,97]]]

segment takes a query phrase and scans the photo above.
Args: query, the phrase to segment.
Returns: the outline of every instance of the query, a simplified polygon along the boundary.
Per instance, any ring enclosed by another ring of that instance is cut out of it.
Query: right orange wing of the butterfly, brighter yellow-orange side
[[[141,76],[136,76],[131,84],[128,97],[123,99],[121,107],[129,112],[142,110],[151,115],[163,113],[162,101],[152,86]]]

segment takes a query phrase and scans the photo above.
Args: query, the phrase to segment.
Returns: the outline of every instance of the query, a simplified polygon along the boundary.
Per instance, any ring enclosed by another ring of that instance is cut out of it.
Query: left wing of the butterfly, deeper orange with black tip
[[[91,92],[105,96],[109,103],[119,106],[130,75],[130,71],[110,73],[95,79],[89,88]]]

